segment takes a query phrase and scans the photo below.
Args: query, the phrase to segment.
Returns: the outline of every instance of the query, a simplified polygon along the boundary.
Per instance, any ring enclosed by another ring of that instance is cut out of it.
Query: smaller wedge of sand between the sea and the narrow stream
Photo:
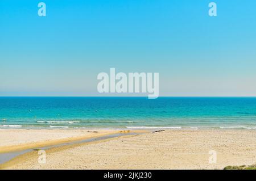
[[[0,129],[0,153],[62,144],[116,132],[118,131],[110,129]]]

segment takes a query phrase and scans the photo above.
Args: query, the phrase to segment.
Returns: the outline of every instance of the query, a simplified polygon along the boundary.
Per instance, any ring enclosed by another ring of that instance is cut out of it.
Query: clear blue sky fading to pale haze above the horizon
[[[38,16],[39,2],[46,16]],[[208,15],[210,2],[217,16]],[[160,96],[256,96],[255,7],[255,0],[1,0],[0,96],[122,95],[97,91],[98,73],[110,68],[159,73]]]

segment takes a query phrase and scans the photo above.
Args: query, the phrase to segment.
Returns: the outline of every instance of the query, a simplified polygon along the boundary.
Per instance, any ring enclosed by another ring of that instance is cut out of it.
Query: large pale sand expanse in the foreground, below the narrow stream
[[[217,162],[209,163],[215,150]],[[166,130],[125,136],[16,158],[6,169],[223,169],[256,163],[256,131]]]

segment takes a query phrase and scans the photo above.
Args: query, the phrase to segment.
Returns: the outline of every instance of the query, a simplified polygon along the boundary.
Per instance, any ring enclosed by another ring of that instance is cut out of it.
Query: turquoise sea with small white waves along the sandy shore
[[[0,129],[256,130],[256,98],[0,97]]]

